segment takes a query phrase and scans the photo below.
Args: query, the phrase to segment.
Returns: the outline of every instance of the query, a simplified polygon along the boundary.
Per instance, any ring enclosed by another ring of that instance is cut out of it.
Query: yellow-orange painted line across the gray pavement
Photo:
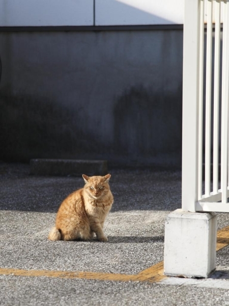
[[[229,226],[223,227],[217,231],[216,251],[229,245]],[[51,270],[24,270],[15,268],[0,268],[0,275],[15,276],[34,276],[34,277],[57,277],[68,279],[91,279],[98,281],[114,282],[150,282],[158,283],[169,276],[164,275],[164,262],[161,261],[138,274],[119,274],[119,273],[102,273],[102,272],[72,272],[72,271],[51,271]]]

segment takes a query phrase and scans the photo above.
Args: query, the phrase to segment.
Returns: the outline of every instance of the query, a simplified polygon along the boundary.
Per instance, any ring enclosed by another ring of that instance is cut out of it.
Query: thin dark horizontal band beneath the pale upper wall
[[[48,27],[0,27],[0,32],[62,32],[62,31],[146,31],[183,30],[183,24],[152,25],[102,25],[102,26],[48,26]]]

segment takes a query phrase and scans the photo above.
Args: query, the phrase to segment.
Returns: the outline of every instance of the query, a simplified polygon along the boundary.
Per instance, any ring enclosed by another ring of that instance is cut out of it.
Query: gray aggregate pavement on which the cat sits
[[[48,241],[61,201],[83,180],[33,176],[29,170],[0,163],[0,305],[229,305],[229,246],[217,252],[217,271],[207,280],[126,282],[1,272],[141,273],[163,261],[164,219],[181,207],[180,171],[112,170],[115,202],[104,225],[109,241]],[[228,214],[218,214],[218,228],[228,224]]]

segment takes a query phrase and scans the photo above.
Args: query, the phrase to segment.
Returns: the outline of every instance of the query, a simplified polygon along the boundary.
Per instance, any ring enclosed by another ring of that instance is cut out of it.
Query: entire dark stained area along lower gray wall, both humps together
[[[182,90],[176,97],[143,86],[126,90],[113,106],[114,126],[107,126],[114,131],[109,145],[99,129],[92,133],[81,128],[86,119],[77,107],[60,107],[31,95],[0,95],[0,109],[0,159],[4,161],[65,158],[106,159],[111,166],[181,165]]]

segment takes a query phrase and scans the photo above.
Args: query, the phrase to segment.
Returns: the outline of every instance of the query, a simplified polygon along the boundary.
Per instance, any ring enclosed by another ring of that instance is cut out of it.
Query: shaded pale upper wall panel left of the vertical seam
[[[0,0],[2,27],[93,24],[93,0]]]

